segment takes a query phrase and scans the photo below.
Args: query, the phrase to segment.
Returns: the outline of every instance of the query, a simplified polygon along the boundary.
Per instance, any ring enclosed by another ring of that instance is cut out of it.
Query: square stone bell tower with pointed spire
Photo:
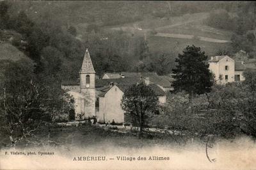
[[[88,49],[84,54],[79,75],[82,118],[92,118],[95,116],[95,71]]]

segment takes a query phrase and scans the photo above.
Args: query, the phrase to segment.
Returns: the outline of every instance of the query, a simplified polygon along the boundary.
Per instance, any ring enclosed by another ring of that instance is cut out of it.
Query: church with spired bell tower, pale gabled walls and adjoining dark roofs
[[[106,123],[125,122],[121,100],[125,89],[132,84],[145,82],[159,98],[159,103],[166,102],[166,93],[172,89],[172,81],[156,73],[116,73],[122,76],[95,79],[95,70],[88,49],[84,54],[79,79],[76,82],[63,81],[61,88],[74,99],[76,120],[96,117],[97,121]]]

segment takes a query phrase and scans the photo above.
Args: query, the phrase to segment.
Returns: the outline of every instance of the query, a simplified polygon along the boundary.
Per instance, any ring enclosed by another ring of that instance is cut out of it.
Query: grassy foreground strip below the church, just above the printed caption
[[[10,140],[6,132],[2,129],[0,131],[0,143],[10,144]],[[87,147],[102,146],[103,144],[113,144],[114,146],[120,146],[125,148],[141,148],[142,146],[151,147],[156,144],[178,144],[176,140],[180,143],[184,143],[184,139],[178,136],[172,135],[145,135],[143,139],[138,139],[136,134],[126,133],[120,134],[118,132],[111,132],[110,130],[104,130],[99,127],[92,125],[80,125],[79,127],[67,127],[60,125],[48,125],[41,126],[35,132],[34,138],[31,141],[40,141],[40,143],[47,143],[47,141],[52,141],[53,145],[57,146],[79,146]],[[17,147],[23,148],[26,143],[20,142]],[[31,146],[34,146],[31,144]]]

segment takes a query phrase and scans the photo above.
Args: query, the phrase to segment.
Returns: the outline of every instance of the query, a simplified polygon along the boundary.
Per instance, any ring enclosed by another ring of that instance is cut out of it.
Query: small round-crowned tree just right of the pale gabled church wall
[[[121,105],[124,111],[131,116],[132,125],[140,126],[139,138],[148,118],[157,111],[158,104],[154,91],[143,82],[133,84],[125,90]]]

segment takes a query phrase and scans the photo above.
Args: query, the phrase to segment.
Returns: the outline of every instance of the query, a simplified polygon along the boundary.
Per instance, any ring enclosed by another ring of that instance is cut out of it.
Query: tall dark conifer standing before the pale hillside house
[[[200,95],[211,91],[214,79],[206,59],[205,52],[194,45],[188,45],[183,54],[179,54],[175,59],[178,65],[173,69],[173,88],[175,91],[188,92],[189,104],[194,94]]]

